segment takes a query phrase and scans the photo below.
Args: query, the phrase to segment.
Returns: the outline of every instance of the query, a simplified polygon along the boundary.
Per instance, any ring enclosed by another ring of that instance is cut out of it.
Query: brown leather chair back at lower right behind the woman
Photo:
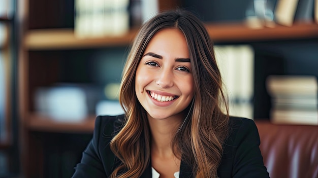
[[[255,122],[264,164],[271,178],[318,177],[318,126]]]

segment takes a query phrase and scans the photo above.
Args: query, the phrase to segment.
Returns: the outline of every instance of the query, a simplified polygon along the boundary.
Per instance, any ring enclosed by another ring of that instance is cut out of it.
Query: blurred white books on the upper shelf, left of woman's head
[[[157,0],[75,0],[75,35],[78,38],[123,35],[157,12]]]

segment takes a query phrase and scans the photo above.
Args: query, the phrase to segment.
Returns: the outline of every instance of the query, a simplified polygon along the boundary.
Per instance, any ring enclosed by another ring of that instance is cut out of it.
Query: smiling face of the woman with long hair
[[[189,51],[179,29],[158,31],[147,45],[136,71],[136,95],[148,117],[184,118],[194,96]]]

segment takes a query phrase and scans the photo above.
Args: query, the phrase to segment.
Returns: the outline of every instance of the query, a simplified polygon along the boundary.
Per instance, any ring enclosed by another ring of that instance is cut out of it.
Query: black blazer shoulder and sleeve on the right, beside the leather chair
[[[255,122],[230,117],[229,136],[218,170],[220,177],[269,177],[259,146]]]

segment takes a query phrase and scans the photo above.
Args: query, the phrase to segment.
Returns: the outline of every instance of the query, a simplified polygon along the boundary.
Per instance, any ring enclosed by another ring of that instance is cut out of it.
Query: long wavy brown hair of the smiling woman
[[[183,32],[195,85],[188,115],[172,140],[173,151],[181,153],[182,161],[192,165],[196,177],[217,176],[222,143],[228,135],[229,115],[213,43],[199,18],[185,10],[174,10],[157,14],[142,25],[126,60],[119,92],[125,119],[110,144],[122,163],[111,177],[140,177],[150,163],[149,125],[136,96],[135,74],[150,39],[164,28],[177,28]],[[226,114],[221,111],[221,106],[225,106]]]

